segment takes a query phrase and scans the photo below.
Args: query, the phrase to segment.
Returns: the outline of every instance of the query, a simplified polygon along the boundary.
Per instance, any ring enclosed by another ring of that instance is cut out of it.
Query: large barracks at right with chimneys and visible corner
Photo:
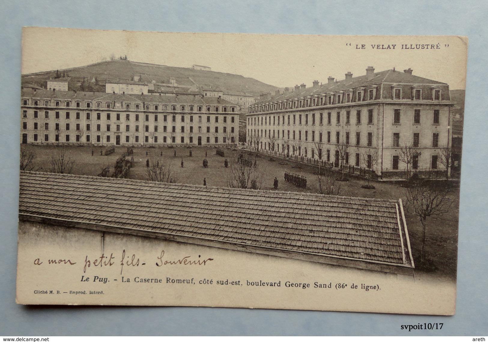
[[[247,141],[264,152],[404,178],[400,150],[406,146],[414,151],[410,170],[446,170],[440,149],[450,147],[452,105],[445,83],[411,69],[374,72],[369,66],[363,76],[348,72],[342,81],[329,77],[323,85],[314,81],[262,95],[248,108]]]

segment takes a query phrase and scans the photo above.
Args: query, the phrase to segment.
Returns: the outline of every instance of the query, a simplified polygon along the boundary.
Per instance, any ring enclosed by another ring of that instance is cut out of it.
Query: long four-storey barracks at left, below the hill
[[[238,106],[220,97],[22,89],[23,144],[237,143]]]

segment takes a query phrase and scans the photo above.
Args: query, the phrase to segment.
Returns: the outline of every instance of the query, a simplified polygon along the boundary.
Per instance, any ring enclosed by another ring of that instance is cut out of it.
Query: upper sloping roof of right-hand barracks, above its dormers
[[[309,87],[309,88],[300,88],[295,90],[292,88],[293,91],[291,92],[285,92],[281,93],[278,95],[271,95],[268,94],[267,97],[261,101],[259,101],[256,104],[264,104],[268,102],[275,102],[275,101],[283,101],[283,100],[290,100],[290,99],[296,99],[296,98],[301,98],[301,97],[306,97],[306,96],[313,96],[313,95],[320,95],[320,94],[326,94],[328,92],[336,92],[336,91],[341,91],[341,90],[348,90],[348,89],[354,89],[358,87],[367,87],[370,85],[379,85],[382,83],[393,83],[393,84],[411,84],[411,85],[417,85],[417,84],[427,84],[427,85],[447,85],[447,83],[442,83],[438,81],[433,81],[429,80],[427,78],[423,78],[420,76],[415,76],[411,75],[406,72],[398,71],[398,70],[385,70],[385,71],[380,71],[380,72],[375,72],[374,77],[370,79],[369,81],[367,80],[366,75],[363,76],[358,76],[358,77],[352,77],[349,80],[341,80],[337,82],[332,82],[331,84],[324,83],[322,85],[319,85],[318,87]],[[256,105],[254,104],[254,105]]]

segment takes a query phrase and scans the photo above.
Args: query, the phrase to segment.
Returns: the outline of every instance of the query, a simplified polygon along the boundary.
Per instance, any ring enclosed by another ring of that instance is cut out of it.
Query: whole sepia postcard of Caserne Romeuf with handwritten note
[[[467,52],[24,28],[17,302],[453,315]]]

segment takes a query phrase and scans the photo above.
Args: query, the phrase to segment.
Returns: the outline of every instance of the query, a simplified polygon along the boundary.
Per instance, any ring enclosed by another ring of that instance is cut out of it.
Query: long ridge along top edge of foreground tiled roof
[[[290,192],[290,191],[274,191],[274,190],[258,190],[258,189],[241,189],[241,188],[228,188],[228,187],[215,187],[209,185],[198,185],[198,184],[183,184],[183,183],[166,183],[166,182],[155,182],[155,181],[148,181],[142,179],[130,179],[130,178],[111,178],[111,177],[99,177],[99,176],[89,176],[85,174],[70,174],[70,173],[53,173],[53,172],[40,172],[40,171],[20,171],[20,175],[22,173],[27,174],[46,174],[46,175],[57,175],[57,176],[71,176],[71,177],[79,177],[79,178],[89,178],[89,179],[103,179],[106,181],[115,181],[115,182],[128,182],[128,183],[144,183],[144,184],[157,184],[157,185],[167,185],[171,187],[175,186],[185,186],[188,188],[203,188],[203,189],[212,189],[212,190],[228,190],[228,191],[235,191],[235,192],[258,192],[258,193],[273,193],[273,194],[292,194],[292,195],[301,195],[301,196],[318,196],[324,198],[337,198],[337,199],[346,199],[346,200],[360,200],[360,201],[370,201],[370,202],[389,202],[389,203],[398,203],[398,200],[394,199],[384,199],[384,198],[366,198],[366,197],[351,197],[351,196],[336,196],[336,195],[326,195],[322,193],[313,193],[313,192]]]

